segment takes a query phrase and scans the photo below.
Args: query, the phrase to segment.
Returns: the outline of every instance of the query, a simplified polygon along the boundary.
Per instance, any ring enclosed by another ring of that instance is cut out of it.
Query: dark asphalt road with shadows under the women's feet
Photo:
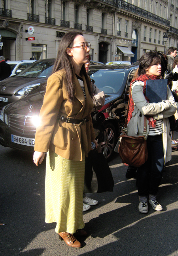
[[[114,192],[87,194],[98,205],[84,212],[89,236],[74,249],[59,240],[55,223],[44,221],[45,161],[36,167],[32,153],[0,146],[0,255],[178,256],[178,151],[159,188],[162,212],[138,212],[135,179],[125,178],[118,154],[109,164]]]

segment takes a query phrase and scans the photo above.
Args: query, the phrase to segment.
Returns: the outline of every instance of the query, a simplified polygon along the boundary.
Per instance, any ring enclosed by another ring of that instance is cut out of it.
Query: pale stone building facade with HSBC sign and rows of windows
[[[135,62],[155,47],[177,46],[177,17],[178,0],[0,0],[0,55],[55,58],[62,36],[81,31],[93,60]]]

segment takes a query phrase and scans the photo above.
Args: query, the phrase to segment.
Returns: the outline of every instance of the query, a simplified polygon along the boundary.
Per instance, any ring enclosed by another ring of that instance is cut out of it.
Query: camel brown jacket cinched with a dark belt
[[[95,139],[90,115],[93,100],[84,75],[82,78],[86,100],[75,76],[76,94],[73,102],[68,100],[64,69],[53,73],[47,79],[44,102],[40,110],[40,126],[36,129],[35,151],[47,152],[51,149],[63,158],[82,161],[82,148],[86,156],[91,150],[91,140]],[[57,119],[58,114],[74,119],[87,118],[89,121],[83,125],[66,123]]]

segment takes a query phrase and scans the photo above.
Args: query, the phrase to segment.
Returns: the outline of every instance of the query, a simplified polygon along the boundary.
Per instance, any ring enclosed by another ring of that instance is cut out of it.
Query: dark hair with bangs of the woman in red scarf
[[[146,74],[146,69],[148,67],[156,65],[158,63],[161,64],[161,56],[159,55],[158,52],[155,52],[155,51],[146,52],[144,55],[142,55],[142,57],[138,62],[139,64],[138,75]]]

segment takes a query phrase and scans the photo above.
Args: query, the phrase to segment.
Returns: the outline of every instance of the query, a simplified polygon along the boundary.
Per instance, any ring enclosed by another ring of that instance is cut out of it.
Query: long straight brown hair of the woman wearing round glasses
[[[82,35],[80,32],[69,32],[66,33],[60,42],[58,52],[57,52],[57,58],[54,64],[53,73],[56,71],[59,71],[60,69],[64,69],[66,71],[65,79],[66,79],[66,90],[68,92],[68,98],[70,101],[74,100],[75,97],[75,84],[74,84],[74,77],[75,77],[75,71],[74,66],[72,63],[72,58],[67,54],[66,50],[67,48],[71,48],[74,44],[74,39],[76,36]],[[81,67],[81,72],[85,76],[85,80],[87,82],[87,87],[89,90],[89,94],[91,98],[93,98],[92,89],[91,89],[91,82],[89,79],[89,76],[86,73],[85,65],[83,64]]]

